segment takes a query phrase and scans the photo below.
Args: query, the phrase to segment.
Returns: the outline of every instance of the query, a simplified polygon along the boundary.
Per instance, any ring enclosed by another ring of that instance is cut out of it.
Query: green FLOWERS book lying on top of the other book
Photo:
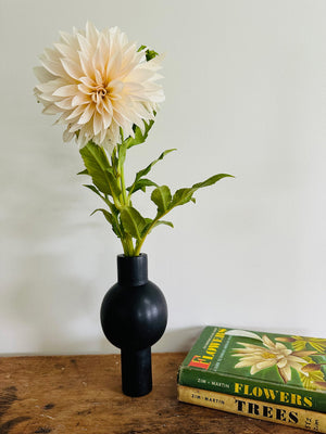
[[[206,327],[178,384],[326,412],[326,340]]]

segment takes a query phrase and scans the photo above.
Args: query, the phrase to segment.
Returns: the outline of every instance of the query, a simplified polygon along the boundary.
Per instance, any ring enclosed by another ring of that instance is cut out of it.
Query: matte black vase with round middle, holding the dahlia
[[[163,335],[166,322],[164,295],[148,280],[147,255],[118,255],[117,283],[103,298],[101,323],[106,339],[121,348],[125,395],[151,392],[151,346]]]

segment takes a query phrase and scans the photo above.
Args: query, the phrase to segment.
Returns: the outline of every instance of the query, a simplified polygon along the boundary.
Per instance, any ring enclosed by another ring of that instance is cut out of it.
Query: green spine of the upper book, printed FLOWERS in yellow
[[[179,368],[178,384],[303,410],[323,412],[326,408],[326,394],[308,390],[298,391],[290,385],[276,386],[262,380],[235,378],[189,367]]]

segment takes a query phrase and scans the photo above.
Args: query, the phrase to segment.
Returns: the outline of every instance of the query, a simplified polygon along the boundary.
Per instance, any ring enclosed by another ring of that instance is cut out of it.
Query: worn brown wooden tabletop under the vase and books
[[[121,392],[120,356],[0,358],[0,434],[304,434],[178,403],[184,353],[153,355],[153,391]]]

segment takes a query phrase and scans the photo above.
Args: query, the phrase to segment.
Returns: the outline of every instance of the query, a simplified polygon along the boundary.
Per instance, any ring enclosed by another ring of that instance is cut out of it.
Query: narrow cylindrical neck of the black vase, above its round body
[[[148,282],[147,254],[117,255],[117,281],[122,285],[138,286]]]

